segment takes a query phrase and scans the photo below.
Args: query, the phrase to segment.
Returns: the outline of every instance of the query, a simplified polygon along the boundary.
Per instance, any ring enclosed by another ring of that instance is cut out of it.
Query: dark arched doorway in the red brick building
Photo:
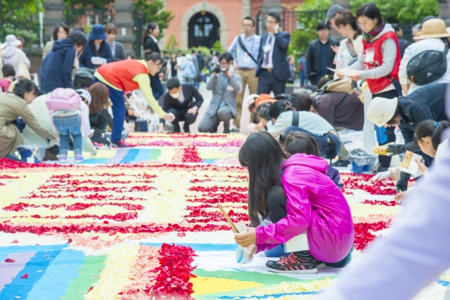
[[[219,20],[212,13],[201,11],[195,13],[189,20],[188,46],[205,46],[211,48],[215,41],[220,39]]]

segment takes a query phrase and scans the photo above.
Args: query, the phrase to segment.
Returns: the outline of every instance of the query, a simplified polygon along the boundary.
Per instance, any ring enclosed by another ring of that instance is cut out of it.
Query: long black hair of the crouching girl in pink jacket
[[[267,196],[281,185],[280,166],[285,159],[281,145],[267,131],[250,134],[239,150],[239,162],[248,168],[248,215],[253,226],[269,216]]]

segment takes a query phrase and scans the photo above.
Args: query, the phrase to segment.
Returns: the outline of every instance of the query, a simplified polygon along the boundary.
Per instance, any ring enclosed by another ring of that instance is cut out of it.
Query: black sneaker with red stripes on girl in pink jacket
[[[289,256],[281,257],[279,261],[267,261],[266,268],[274,273],[293,273],[293,274],[316,274],[316,260],[309,255],[307,260],[291,253]]]

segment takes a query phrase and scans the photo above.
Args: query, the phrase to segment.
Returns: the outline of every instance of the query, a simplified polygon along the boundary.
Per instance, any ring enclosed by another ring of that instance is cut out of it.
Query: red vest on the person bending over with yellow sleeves
[[[139,89],[139,84],[133,81],[137,74],[148,74],[147,67],[138,60],[120,60],[114,63],[107,63],[97,69],[113,86],[122,91],[134,91]]]

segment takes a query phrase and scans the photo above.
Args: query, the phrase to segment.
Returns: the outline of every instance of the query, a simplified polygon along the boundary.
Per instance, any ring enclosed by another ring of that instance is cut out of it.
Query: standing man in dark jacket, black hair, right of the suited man
[[[317,24],[318,39],[308,44],[307,75],[311,84],[317,85],[319,79],[325,75],[333,75],[327,67],[334,69],[335,53],[331,46],[339,46],[338,41],[330,38],[330,25],[321,21]]]

